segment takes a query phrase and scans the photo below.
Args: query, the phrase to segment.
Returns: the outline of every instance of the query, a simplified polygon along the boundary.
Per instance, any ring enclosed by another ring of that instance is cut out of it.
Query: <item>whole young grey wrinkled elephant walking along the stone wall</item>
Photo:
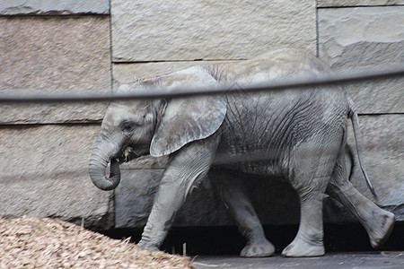
[[[151,91],[155,86],[175,91],[219,83],[238,88],[321,72],[329,68],[316,57],[284,49],[237,64],[192,67],[119,91]],[[324,254],[324,193],[356,215],[377,247],[389,235],[394,215],[361,195],[347,179],[348,118],[357,133],[355,109],[338,87],[116,102],[103,119],[90,175],[95,186],[110,190],[119,185],[119,161],[145,154],[170,156],[139,242],[145,249],[160,247],[175,213],[208,173],[247,239],[241,256],[270,256],[275,249],[243,193],[240,181],[249,174],[282,176],[300,197],[300,227],[283,255]],[[105,175],[108,163],[110,177]]]

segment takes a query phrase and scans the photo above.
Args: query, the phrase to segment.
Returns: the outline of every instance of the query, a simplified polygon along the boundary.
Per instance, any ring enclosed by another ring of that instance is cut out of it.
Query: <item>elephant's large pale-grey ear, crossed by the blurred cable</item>
[[[215,79],[200,67],[191,67],[162,78],[161,86],[169,91],[178,88],[217,87]],[[189,97],[169,100],[150,146],[154,157],[178,151],[192,141],[204,139],[217,131],[226,114],[224,96]]]

